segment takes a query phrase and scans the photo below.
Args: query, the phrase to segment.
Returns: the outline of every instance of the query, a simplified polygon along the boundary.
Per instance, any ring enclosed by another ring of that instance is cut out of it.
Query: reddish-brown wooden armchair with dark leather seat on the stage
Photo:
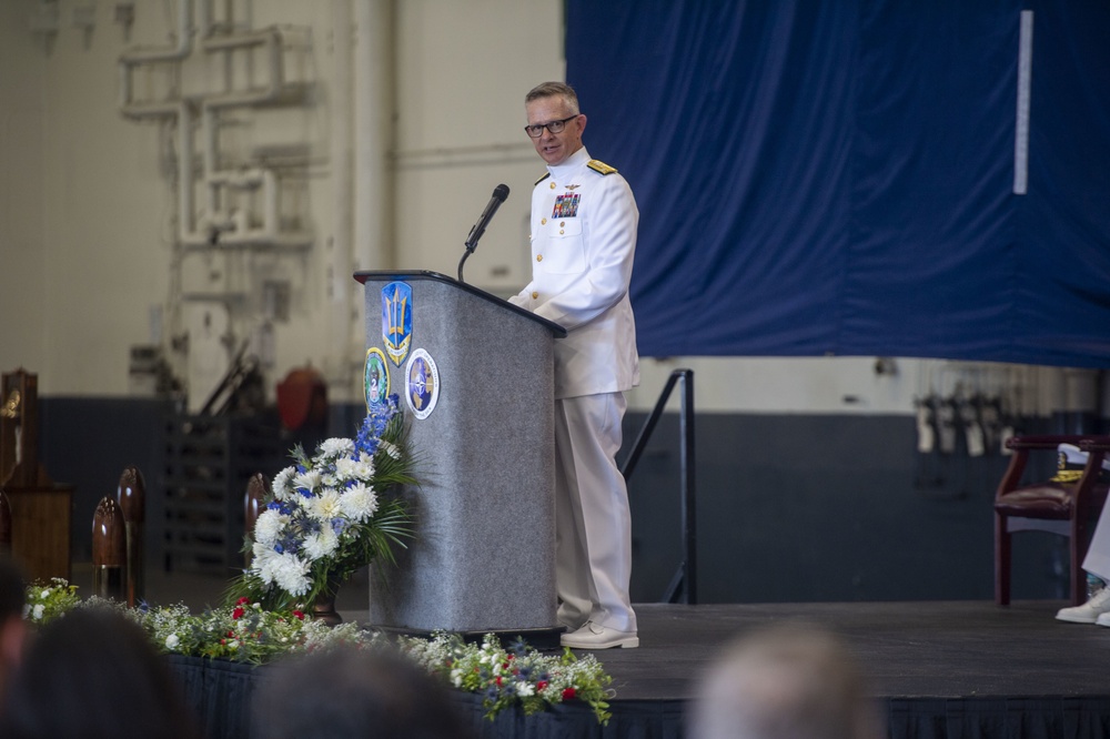
[[[1039,451],[1058,453],[1061,444],[1072,444],[1088,453],[1079,478],[1022,484],[1029,455]],[[995,494],[995,603],[1000,606],[1010,603],[1011,536],[1017,532],[1039,530],[1069,538],[1071,603],[1078,606],[1087,600],[1083,557],[1107,499],[1108,486],[1101,477],[1102,459],[1110,452],[1110,436],[1015,436],[1006,446],[1013,451],[1013,457]]]

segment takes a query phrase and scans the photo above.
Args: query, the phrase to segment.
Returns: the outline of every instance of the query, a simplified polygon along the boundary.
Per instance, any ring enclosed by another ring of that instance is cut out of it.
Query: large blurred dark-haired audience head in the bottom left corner
[[[4,739],[196,737],[169,664],[110,607],[42,627],[6,691]]]

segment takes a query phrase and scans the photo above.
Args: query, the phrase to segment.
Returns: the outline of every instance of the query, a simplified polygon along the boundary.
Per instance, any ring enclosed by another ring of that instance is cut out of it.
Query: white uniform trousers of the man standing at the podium
[[[615,459],[625,407],[619,392],[555,401],[555,583],[572,628],[636,630],[632,513]]]

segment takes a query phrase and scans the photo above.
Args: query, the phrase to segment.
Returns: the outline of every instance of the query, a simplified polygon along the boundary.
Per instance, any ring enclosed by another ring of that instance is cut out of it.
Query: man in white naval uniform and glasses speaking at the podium
[[[615,169],[582,143],[586,117],[562,82],[525,98],[536,152],[532,282],[511,302],[567,330],[555,341],[556,589],[562,644],[637,647],[632,515],[620,448],[624,391],[639,383],[628,301],[639,212]]]

